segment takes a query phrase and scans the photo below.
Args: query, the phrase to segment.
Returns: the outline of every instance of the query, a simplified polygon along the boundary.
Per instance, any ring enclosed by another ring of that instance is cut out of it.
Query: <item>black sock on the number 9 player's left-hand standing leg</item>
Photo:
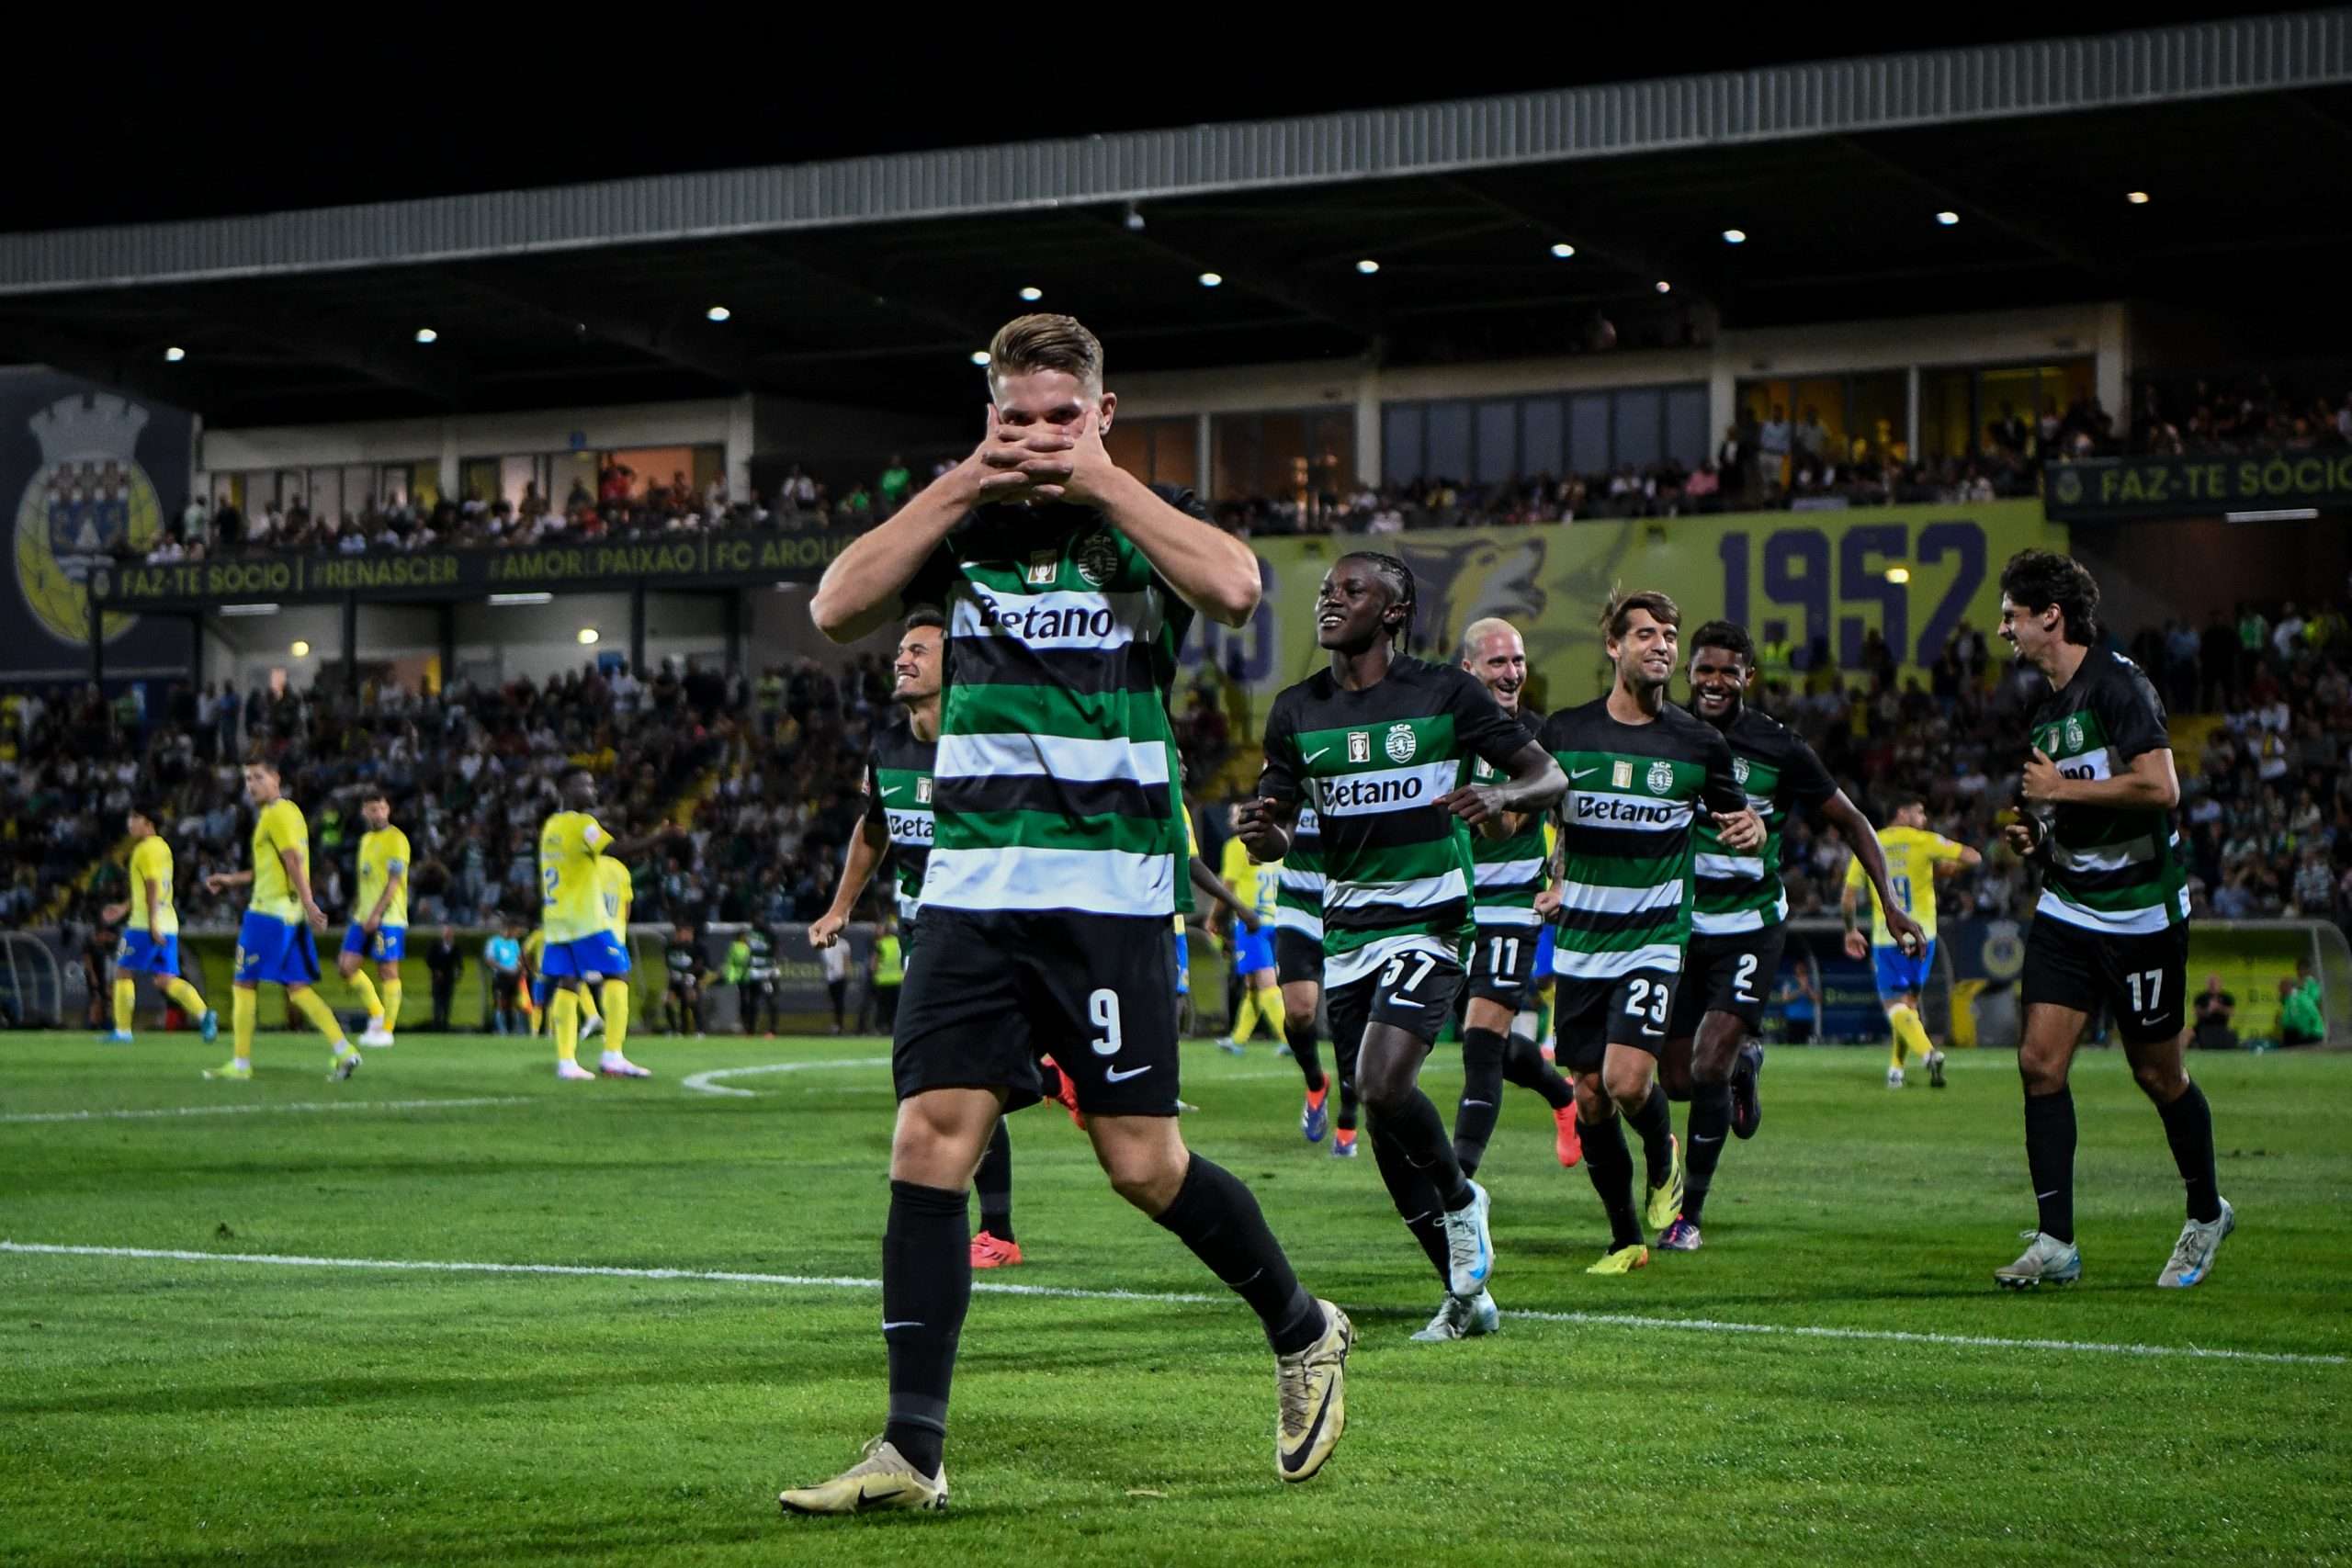
[[[882,1436],[927,1476],[948,1441],[955,1342],[971,1309],[969,1197],[917,1182],[889,1185],[882,1232],[882,1342],[889,1345],[889,1425]]]

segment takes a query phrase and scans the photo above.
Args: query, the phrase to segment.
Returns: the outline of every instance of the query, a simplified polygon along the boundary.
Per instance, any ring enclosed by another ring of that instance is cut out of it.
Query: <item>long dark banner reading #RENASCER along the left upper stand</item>
[[[268,599],[473,599],[494,592],[579,592],[814,583],[849,534],[701,534],[647,543],[416,555],[252,555],[174,567],[120,564],[92,576],[108,609],[198,609]]]

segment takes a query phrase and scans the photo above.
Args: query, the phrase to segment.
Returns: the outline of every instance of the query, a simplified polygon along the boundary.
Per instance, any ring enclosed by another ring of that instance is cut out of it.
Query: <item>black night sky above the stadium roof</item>
[[[2129,19],[2077,28],[2227,9],[2143,5]],[[47,71],[21,68],[7,89],[0,230],[1030,141],[2072,31],[2011,14],[1985,24],[1966,9],[1943,14],[1943,26],[1870,12],[1865,26],[1844,28],[1820,26],[1839,12],[1799,9],[1759,16],[1804,16],[1809,26],[1743,40],[1691,14],[1651,21],[1642,7],[1625,12],[1606,24],[1613,33],[1595,33],[1599,7],[1557,12],[1569,26],[1552,49],[1503,47],[1496,26],[1432,31],[1418,12],[1385,7],[1364,9],[1364,31],[1385,47],[1371,38],[1329,42],[1336,12],[1324,12],[1312,35],[1254,28],[1237,38],[1228,12],[1185,5],[1117,16],[1063,9],[1040,21],[1014,9],[924,7],[910,12],[910,31],[936,42],[891,35],[894,47],[880,47],[873,28],[828,35],[797,7],[769,12],[790,19],[781,26],[753,28],[741,9],[724,19],[628,9],[612,40],[593,21],[553,19],[532,35],[499,38],[430,9],[397,28],[381,26],[383,14],[346,12],[329,28],[308,24],[301,38],[285,35],[287,16],[256,16],[259,40],[223,24],[176,33],[167,24],[141,31],[120,54],[92,52],[87,35],[61,38],[56,49],[12,40],[19,66],[45,61]],[[1526,28],[1526,42],[1548,31],[1529,12],[1494,16],[1501,28]],[[1185,28],[1214,40],[1131,52],[1105,42]],[[663,45],[666,35],[675,42]]]

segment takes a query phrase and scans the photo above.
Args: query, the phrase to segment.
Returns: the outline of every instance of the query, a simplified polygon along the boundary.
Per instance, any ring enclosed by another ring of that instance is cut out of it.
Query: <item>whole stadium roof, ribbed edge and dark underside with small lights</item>
[[[2352,266],[2347,155],[2352,12],[2305,12],[0,235],[0,362],[247,425],[743,388],[946,407],[1021,289],[1115,369],[1571,353],[1595,315],[1639,346],[2079,299],[2244,313]]]

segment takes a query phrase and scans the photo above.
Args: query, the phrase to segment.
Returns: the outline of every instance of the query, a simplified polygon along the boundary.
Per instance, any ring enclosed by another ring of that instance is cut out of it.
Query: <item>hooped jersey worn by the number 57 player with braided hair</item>
[[[1378,686],[1329,670],[1265,717],[1258,795],[1315,809],[1322,827],[1324,985],[1404,950],[1458,959],[1470,936],[1470,830],[1432,802],[1470,757],[1508,764],[1529,743],[1477,679],[1399,656]]]

